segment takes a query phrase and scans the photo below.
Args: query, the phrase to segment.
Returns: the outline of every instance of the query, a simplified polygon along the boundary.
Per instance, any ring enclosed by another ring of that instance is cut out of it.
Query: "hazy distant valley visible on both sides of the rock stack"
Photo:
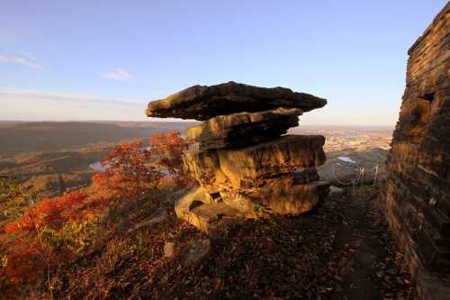
[[[184,133],[194,122],[0,122],[0,176],[23,179],[40,197],[61,195],[87,186],[98,170],[91,164],[102,159],[112,146],[147,139],[156,132]],[[293,134],[321,134],[328,161],[321,177],[338,184],[351,183],[365,168],[365,180],[374,180],[374,167],[383,172],[392,138],[390,128],[307,126]],[[348,157],[355,164],[338,158]],[[338,179],[339,180],[339,179]]]

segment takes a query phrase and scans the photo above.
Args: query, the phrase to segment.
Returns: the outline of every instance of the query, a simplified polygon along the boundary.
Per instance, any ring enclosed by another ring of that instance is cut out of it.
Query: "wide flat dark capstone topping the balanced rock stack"
[[[326,104],[323,98],[285,87],[247,86],[230,81],[217,86],[191,86],[166,99],[152,101],[146,114],[204,121],[223,114],[256,113],[278,107],[309,112]]]

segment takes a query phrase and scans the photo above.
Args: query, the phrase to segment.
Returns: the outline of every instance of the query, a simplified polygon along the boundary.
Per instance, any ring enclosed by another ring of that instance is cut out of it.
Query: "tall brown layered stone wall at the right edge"
[[[409,51],[383,200],[421,298],[450,296],[450,5]],[[433,278],[433,279],[430,279]],[[441,284],[440,284],[441,282]],[[440,286],[439,286],[440,285]]]

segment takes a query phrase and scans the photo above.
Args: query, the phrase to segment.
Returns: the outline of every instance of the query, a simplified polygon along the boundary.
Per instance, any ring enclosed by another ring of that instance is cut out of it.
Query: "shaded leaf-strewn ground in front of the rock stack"
[[[373,187],[357,188],[353,195],[331,196],[311,214],[246,221],[210,241],[169,213],[151,228],[124,234],[121,243],[134,250],[116,253],[108,268],[102,264],[112,255],[103,250],[67,269],[55,295],[413,299],[415,287],[376,195]],[[194,259],[186,263],[189,256]]]

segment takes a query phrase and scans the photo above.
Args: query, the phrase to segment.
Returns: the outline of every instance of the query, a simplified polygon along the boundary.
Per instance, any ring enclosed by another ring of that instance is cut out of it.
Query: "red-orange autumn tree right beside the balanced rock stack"
[[[183,153],[190,142],[179,132],[157,133],[144,147],[142,141],[114,147],[102,159],[104,171],[93,177],[96,192],[106,199],[127,199],[146,195],[169,177],[175,186],[189,184]]]

